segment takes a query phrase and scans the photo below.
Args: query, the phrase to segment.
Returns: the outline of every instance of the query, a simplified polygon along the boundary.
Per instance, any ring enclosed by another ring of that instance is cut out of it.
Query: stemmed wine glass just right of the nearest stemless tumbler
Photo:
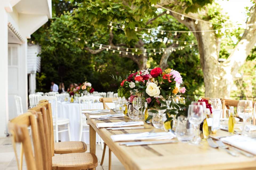
[[[189,105],[188,118],[195,128],[195,137],[191,143],[199,144],[201,141],[199,124],[203,121],[203,107],[201,105]]]

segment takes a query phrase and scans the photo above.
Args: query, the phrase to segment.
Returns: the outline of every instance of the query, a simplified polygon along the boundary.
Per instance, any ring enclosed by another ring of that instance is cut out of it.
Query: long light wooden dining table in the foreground
[[[149,132],[152,129],[106,130],[106,128],[97,128],[96,123],[129,121],[129,117],[115,120],[95,120],[90,119],[89,114],[85,115],[87,117],[87,124],[90,127],[90,152],[94,154],[96,152],[97,132],[127,170],[256,169],[256,157],[248,158],[241,154],[234,157],[223,149],[211,148],[207,141],[202,141],[200,146],[182,142],[129,147],[119,145],[120,142],[113,142],[111,140],[111,135]],[[149,124],[144,124],[144,127],[154,128]],[[155,129],[155,132],[161,131],[163,130]],[[226,132],[219,130],[215,135],[218,136],[218,133],[223,135]]]

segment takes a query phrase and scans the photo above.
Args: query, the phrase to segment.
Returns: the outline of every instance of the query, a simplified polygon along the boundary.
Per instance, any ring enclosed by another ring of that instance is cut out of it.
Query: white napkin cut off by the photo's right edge
[[[234,135],[230,137],[221,138],[222,142],[227,143],[229,145],[235,146],[244,151],[250,152],[256,155],[256,139]]]

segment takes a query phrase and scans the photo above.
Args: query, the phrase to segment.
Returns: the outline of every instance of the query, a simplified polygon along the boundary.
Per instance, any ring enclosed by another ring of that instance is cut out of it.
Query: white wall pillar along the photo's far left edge
[[[8,114],[8,20],[4,5],[0,3],[0,137],[7,132]]]

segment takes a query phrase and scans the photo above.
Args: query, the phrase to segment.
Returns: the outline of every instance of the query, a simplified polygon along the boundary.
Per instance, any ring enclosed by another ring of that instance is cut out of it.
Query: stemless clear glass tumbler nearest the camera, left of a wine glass
[[[181,115],[177,118],[177,127],[175,134],[179,141],[189,142],[194,137],[194,130],[191,124],[188,122],[187,117]]]

